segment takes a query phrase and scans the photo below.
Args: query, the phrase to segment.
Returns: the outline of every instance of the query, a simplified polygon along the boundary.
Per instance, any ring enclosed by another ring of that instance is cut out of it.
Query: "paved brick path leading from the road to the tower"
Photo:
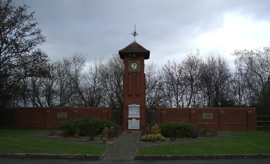
[[[104,154],[104,160],[133,160],[140,131],[123,134]]]

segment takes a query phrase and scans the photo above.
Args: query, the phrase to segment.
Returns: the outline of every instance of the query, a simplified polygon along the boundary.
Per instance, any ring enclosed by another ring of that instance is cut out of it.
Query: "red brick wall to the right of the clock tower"
[[[203,119],[212,113],[212,119]],[[158,108],[159,122],[189,122],[203,127],[208,122],[216,130],[256,130],[256,108]]]

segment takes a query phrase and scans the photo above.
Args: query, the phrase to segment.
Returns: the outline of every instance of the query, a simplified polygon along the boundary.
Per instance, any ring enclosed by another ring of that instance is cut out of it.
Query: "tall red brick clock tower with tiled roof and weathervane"
[[[137,36],[134,31],[133,36]],[[119,50],[124,60],[123,79],[123,130],[141,130],[141,123],[146,122],[146,79],[144,60],[149,59],[150,51],[137,42]]]

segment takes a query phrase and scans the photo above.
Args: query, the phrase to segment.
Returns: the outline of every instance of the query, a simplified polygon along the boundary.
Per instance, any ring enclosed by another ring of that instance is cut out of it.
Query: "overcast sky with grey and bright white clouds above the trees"
[[[14,0],[35,11],[50,59],[74,52],[109,58],[134,41],[162,66],[187,52],[218,51],[233,63],[235,49],[270,45],[269,0]],[[146,63],[147,63],[146,62]]]

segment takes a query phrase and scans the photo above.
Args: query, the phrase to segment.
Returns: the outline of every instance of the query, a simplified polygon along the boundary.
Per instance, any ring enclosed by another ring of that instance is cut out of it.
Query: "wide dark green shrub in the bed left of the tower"
[[[72,136],[88,136],[91,140],[93,138],[92,132],[95,132],[95,136],[102,133],[104,128],[111,129],[113,127],[113,136],[116,136],[120,132],[119,126],[112,121],[106,119],[77,119],[73,118],[70,121],[63,122],[60,125],[64,135]]]

